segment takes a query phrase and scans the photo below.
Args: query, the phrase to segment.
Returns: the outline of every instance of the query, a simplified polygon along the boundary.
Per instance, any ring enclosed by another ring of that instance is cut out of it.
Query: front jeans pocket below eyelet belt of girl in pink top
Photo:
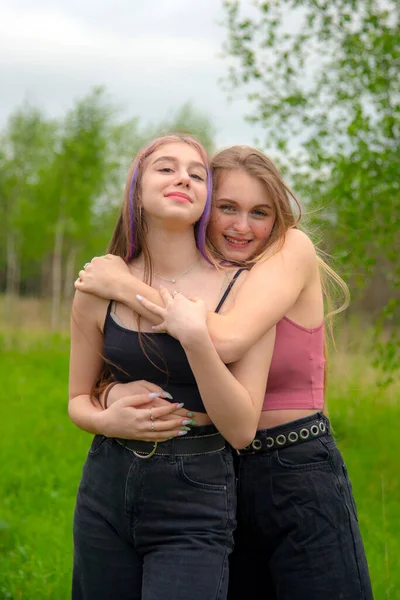
[[[312,471],[330,469],[329,450],[319,439],[288,446],[275,451],[280,467],[289,471]]]

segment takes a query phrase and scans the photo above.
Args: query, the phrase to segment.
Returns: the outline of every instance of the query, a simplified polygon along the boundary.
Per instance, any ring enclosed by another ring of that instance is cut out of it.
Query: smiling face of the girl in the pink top
[[[221,174],[207,237],[226,259],[246,261],[262,252],[276,211],[264,184],[245,171]]]

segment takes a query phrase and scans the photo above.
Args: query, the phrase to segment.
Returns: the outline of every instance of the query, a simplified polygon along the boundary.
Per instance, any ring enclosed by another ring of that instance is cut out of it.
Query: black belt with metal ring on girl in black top
[[[208,435],[185,436],[172,438],[166,442],[145,442],[143,440],[124,440],[114,438],[118,444],[130,450],[138,458],[151,458],[157,456],[194,456],[198,454],[210,454],[223,450],[226,441],[220,433]]]

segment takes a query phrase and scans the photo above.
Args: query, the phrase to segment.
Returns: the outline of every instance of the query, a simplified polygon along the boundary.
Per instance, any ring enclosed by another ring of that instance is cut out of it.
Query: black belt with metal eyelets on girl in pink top
[[[274,429],[278,429],[279,433],[274,434]],[[254,440],[245,448],[237,450],[237,453],[246,455],[280,450],[288,446],[308,442],[326,433],[329,433],[329,427],[327,421],[323,418],[287,429],[280,425],[279,427],[274,427],[272,430],[265,429],[258,431]]]

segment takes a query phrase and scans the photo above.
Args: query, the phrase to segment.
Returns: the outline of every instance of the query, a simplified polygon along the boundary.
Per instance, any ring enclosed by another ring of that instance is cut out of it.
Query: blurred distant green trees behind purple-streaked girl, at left
[[[57,122],[16,109],[0,134],[0,290],[69,300],[78,266],[108,246],[130,162],[166,132],[214,146],[210,119],[190,103],[151,125],[122,120],[103,88]]]

